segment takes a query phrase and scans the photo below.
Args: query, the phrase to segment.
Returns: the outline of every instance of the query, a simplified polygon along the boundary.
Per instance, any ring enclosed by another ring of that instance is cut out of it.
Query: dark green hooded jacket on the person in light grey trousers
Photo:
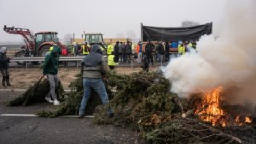
[[[58,67],[59,67],[59,55],[56,56],[55,53],[61,53],[59,46],[53,46],[53,50],[45,56],[44,65],[43,65],[43,75],[51,74],[55,75],[58,74]]]

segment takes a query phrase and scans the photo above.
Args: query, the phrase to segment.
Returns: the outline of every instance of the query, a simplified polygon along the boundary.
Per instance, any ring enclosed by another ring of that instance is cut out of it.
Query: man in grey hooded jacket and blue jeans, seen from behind
[[[85,108],[90,98],[92,89],[100,96],[103,105],[108,105],[109,99],[106,92],[103,78],[106,77],[107,65],[106,61],[102,60],[102,50],[99,45],[93,45],[91,52],[82,60],[82,77],[83,77],[83,99],[79,109],[79,118],[85,116]],[[109,117],[113,117],[111,108],[108,108]]]

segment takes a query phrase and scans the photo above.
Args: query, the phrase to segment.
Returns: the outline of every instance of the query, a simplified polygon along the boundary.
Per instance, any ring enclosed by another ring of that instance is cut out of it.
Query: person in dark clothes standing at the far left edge
[[[9,57],[6,57],[6,47],[2,47],[0,49],[0,71],[2,74],[2,86],[6,87],[5,82],[7,84],[7,86],[12,86],[9,82],[9,71],[8,71],[8,67],[9,67],[9,63],[10,63],[10,59]]]

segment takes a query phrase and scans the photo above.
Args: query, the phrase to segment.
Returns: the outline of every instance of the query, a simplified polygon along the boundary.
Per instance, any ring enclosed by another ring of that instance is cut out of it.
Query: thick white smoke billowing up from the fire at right
[[[186,97],[215,87],[238,87],[234,99],[256,102],[256,1],[230,1],[218,27],[218,38],[203,36],[198,53],[182,55],[167,65],[171,91]],[[214,23],[213,23],[214,25]]]

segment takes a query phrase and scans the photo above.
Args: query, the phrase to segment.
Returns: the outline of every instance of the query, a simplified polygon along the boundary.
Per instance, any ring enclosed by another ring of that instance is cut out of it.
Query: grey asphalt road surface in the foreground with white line
[[[31,114],[53,109],[48,103],[6,107],[22,92],[0,91],[1,114]],[[0,143],[145,143],[138,133],[113,125],[94,125],[92,118],[0,116]]]

